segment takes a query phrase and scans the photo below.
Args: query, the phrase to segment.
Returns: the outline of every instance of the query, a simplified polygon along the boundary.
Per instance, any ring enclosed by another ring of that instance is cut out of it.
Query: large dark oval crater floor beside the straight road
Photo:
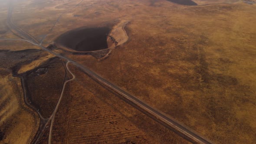
[[[79,52],[107,49],[108,27],[77,28],[60,35],[55,44]]]

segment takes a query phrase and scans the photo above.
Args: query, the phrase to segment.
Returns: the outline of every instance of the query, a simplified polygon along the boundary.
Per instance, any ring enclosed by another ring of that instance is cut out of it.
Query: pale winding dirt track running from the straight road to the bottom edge
[[[49,120],[51,119],[52,121],[51,121],[51,124],[50,124],[51,126],[50,126],[50,129],[49,129],[48,144],[51,144],[51,143],[52,143],[53,123],[54,123],[54,119],[55,119],[56,112],[57,112],[57,110],[58,110],[58,108],[59,108],[59,104],[60,104],[60,102],[61,102],[61,100],[62,100],[62,97],[63,97],[63,93],[64,93],[64,90],[65,90],[65,86],[66,86],[67,82],[72,81],[72,80],[75,79],[75,75],[69,70],[68,64],[69,64],[69,62],[66,63],[66,68],[67,68],[67,70],[69,71],[69,73],[72,75],[72,79],[69,79],[69,80],[67,80],[66,82],[64,82],[64,85],[63,85],[63,87],[62,87],[62,92],[61,92],[60,97],[59,97],[59,101],[58,101],[58,103],[57,103],[57,105],[56,105],[56,107],[55,107],[55,109],[54,109],[54,111],[53,111],[53,114],[52,114],[51,117],[49,118]]]

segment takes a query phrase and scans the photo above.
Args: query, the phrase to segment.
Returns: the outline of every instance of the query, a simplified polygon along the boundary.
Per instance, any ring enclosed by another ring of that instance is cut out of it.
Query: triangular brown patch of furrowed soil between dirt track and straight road
[[[83,91],[84,95],[72,97],[68,143],[149,143],[143,131],[91,92]]]

